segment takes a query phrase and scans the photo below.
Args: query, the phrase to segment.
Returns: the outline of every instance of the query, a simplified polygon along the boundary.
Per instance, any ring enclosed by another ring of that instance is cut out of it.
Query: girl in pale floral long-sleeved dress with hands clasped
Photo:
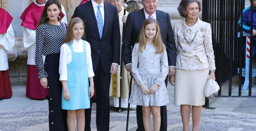
[[[131,67],[135,82],[129,103],[142,106],[145,131],[151,128],[151,112],[154,131],[159,131],[160,106],[169,103],[164,82],[168,74],[168,59],[154,18],[148,18],[142,25],[139,43],[133,47]]]

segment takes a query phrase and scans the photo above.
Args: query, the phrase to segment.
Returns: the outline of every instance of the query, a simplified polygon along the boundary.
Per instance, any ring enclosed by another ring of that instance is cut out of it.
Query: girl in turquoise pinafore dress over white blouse
[[[85,129],[85,109],[90,108],[90,97],[94,94],[91,47],[88,42],[81,40],[84,35],[83,21],[78,17],[73,18],[69,22],[67,35],[61,46],[61,104],[62,109],[67,110],[69,131],[75,131],[75,118],[78,131]]]

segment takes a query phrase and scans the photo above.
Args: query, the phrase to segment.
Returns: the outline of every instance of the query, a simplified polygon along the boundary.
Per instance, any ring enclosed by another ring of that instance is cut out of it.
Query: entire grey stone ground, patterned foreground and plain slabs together
[[[224,90],[225,86],[223,86]],[[235,88],[232,88],[235,93]],[[168,86],[170,103],[168,110],[168,131],[182,131],[180,106],[173,105],[173,86]],[[255,95],[253,88],[253,93]],[[0,101],[0,131],[48,131],[48,100],[34,100],[25,97],[25,86],[13,86],[13,97]],[[225,93],[225,91],[223,92]],[[232,92],[233,93],[233,92]],[[246,91],[243,92],[246,94]],[[203,109],[200,131],[256,131],[256,98],[215,98],[211,107]],[[112,105],[112,101],[111,101]],[[92,131],[97,131],[95,104],[92,108]],[[111,109],[110,131],[125,131],[127,110],[121,113]],[[131,108],[129,131],[137,128],[136,111]],[[192,119],[190,117],[190,129]]]

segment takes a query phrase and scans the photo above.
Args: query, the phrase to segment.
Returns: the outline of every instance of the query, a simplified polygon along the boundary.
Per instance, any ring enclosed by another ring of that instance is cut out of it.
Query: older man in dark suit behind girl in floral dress
[[[164,45],[166,46],[166,51],[168,54],[168,64],[169,64],[169,74],[172,76],[175,73],[176,66],[176,45],[173,36],[173,29],[171,27],[170,16],[168,13],[156,10],[157,0],[142,0],[142,5],[144,8],[138,11],[129,13],[122,45],[123,60],[125,62],[125,68],[127,71],[131,72],[131,46],[138,42],[138,36],[142,27],[142,24],[147,18],[155,18],[159,23],[161,37]],[[167,86],[166,77],[165,83]],[[161,106],[161,126],[160,131],[167,130],[167,111],[166,106]],[[142,117],[142,106],[137,106],[137,131],[144,131],[143,117]]]

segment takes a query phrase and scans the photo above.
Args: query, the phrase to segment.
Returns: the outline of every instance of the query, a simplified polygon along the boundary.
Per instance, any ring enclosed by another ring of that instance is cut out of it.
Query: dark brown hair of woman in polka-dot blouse
[[[41,24],[44,24],[44,23],[48,22],[49,18],[47,18],[47,8],[52,4],[56,4],[58,6],[59,10],[61,11],[61,3],[59,2],[59,0],[48,0],[45,3],[45,7],[43,8],[43,12],[40,16],[38,25],[41,25]],[[59,13],[59,16],[61,17],[61,12]],[[58,17],[58,21],[59,21],[59,19],[60,18]]]

